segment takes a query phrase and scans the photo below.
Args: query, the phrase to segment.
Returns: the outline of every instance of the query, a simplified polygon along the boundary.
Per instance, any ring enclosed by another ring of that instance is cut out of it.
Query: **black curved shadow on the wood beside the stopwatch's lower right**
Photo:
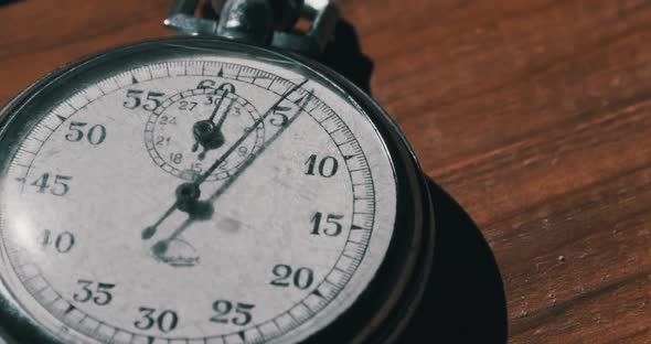
[[[430,287],[399,343],[506,343],[506,300],[493,254],[470,216],[429,182],[436,216]]]

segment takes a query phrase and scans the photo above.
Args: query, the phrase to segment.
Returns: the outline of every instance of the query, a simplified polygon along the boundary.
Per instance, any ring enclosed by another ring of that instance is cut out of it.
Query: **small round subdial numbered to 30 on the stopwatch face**
[[[260,115],[234,87],[196,88],[177,94],[156,108],[145,129],[153,162],[166,172],[194,181],[228,150]],[[228,178],[264,141],[259,123],[206,181]]]

